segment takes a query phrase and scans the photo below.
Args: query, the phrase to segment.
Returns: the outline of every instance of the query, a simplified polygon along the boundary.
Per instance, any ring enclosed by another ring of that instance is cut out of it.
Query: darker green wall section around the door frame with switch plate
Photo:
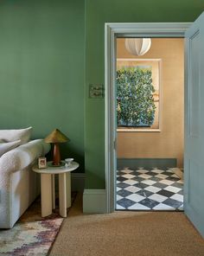
[[[105,188],[105,100],[89,83],[105,81],[105,22],[193,22],[203,0],[86,0],[86,189]]]

